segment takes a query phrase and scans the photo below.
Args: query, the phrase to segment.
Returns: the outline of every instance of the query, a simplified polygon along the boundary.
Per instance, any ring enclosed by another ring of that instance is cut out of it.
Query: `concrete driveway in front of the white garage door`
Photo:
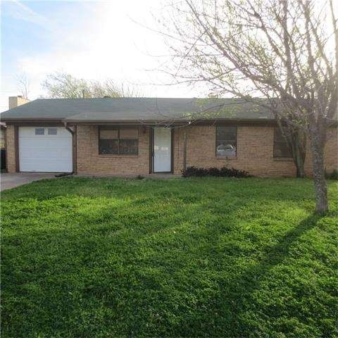
[[[54,178],[55,175],[56,173],[1,173],[0,191],[45,178]]]

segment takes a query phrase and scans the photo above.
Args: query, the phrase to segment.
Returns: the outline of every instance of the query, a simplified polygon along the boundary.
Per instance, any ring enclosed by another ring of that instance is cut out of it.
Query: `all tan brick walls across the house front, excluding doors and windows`
[[[8,172],[15,172],[15,127],[8,125],[6,149]],[[337,127],[331,128],[325,146],[325,165],[328,172],[338,168]],[[239,125],[237,127],[237,158],[226,159],[215,156],[215,126],[192,125],[176,127],[174,131],[173,168],[180,175],[184,158],[184,133],[187,134],[187,166],[222,167],[228,165],[246,170],[256,176],[296,175],[290,159],[273,158],[272,126]],[[138,155],[100,155],[99,127],[77,125],[77,173],[102,175],[148,175],[149,174],[149,127],[139,127]],[[308,142],[308,148],[310,144]],[[311,154],[306,156],[306,174],[311,175]]]

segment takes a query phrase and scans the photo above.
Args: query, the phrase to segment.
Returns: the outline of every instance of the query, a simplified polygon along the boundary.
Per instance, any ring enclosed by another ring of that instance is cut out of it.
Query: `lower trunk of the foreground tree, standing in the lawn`
[[[315,183],[315,212],[326,213],[327,206],[327,185],[325,181],[324,165],[324,144],[318,130],[310,131],[311,153],[313,163],[313,180]]]

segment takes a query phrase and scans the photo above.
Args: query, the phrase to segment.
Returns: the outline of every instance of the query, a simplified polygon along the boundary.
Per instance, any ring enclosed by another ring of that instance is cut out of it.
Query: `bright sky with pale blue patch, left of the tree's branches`
[[[45,94],[46,75],[56,71],[87,80],[110,78],[143,96],[205,94],[167,85],[171,80],[158,71],[168,62],[168,46],[154,32],[156,18],[165,13],[161,0],[2,0],[0,10],[0,111],[8,108],[8,96],[20,94],[18,77],[27,77],[29,99],[37,99]]]

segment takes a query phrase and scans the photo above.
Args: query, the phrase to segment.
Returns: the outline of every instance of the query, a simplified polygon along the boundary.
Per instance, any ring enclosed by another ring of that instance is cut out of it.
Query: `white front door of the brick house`
[[[154,127],[154,173],[171,171],[171,128]]]

